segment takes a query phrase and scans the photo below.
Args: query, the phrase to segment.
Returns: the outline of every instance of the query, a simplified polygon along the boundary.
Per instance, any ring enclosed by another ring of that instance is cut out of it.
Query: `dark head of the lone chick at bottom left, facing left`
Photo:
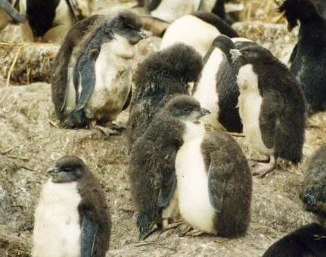
[[[54,183],[69,183],[78,181],[85,172],[86,165],[76,156],[65,156],[60,158],[54,167],[48,169]]]

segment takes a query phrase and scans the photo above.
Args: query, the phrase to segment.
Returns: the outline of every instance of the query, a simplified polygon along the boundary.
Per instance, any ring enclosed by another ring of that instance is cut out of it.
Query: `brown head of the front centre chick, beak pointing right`
[[[200,103],[188,95],[173,97],[164,107],[172,117],[181,119],[184,122],[199,123],[199,119],[209,115],[209,110],[200,106]]]

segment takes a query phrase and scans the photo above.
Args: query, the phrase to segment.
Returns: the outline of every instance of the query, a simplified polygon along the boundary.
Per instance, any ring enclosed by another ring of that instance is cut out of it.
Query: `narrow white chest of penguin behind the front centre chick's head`
[[[218,93],[216,91],[216,74],[223,61],[223,52],[215,48],[209,56],[205,67],[201,73],[194,98],[200,102],[200,106],[211,112],[201,119],[204,124],[209,124],[218,128]]]

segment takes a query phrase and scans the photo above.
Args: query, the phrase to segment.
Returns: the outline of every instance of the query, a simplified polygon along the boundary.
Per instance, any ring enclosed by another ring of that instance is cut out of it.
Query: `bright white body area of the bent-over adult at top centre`
[[[211,24],[193,15],[186,15],[177,19],[166,29],[160,49],[179,42],[194,47],[201,56],[205,56],[214,39],[220,34],[218,29]]]

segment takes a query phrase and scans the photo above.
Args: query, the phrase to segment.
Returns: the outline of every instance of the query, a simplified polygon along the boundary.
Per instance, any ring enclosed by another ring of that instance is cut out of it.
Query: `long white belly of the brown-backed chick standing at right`
[[[261,154],[271,156],[273,149],[268,149],[261,140],[259,127],[259,114],[263,98],[258,89],[258,76],[252,69],[252,65],[244,65],[239,69],[237,78],[239,85],[239,114],[243,124],[243,134],[250,147]]]

